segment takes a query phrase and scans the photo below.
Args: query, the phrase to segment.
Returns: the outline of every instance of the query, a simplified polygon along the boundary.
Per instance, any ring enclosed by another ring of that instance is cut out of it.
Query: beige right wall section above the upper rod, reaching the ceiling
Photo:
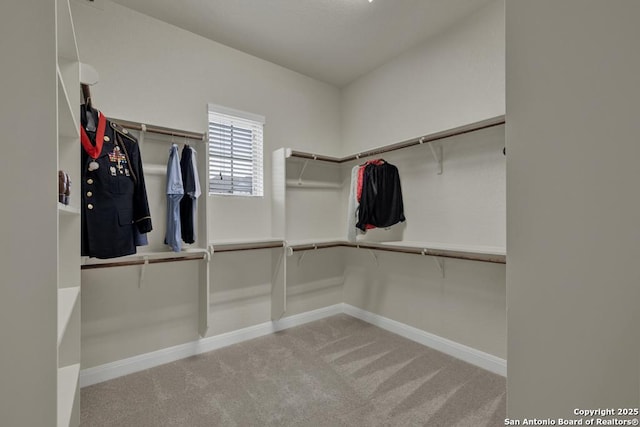
[[[504,114],[504,1],[342,91],[342,151],[352,154]]]

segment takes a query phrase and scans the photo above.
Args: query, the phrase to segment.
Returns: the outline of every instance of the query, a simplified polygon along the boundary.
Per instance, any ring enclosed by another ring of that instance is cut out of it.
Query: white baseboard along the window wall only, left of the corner
[[[212,337],[200,339],[174,347],[163,348],[151,353],[128,357],[104,365],[87,368],[80,371],[80,387],[86,387],[103,381],[143,371],[165,363],[174,362],[196,354],[206,353],[232,344],[237,344],[253,338],[303,325],[325,317],[342,313],[342,304],[336,304],[306,313],[296,314],[283,319],[264,322],[237,331],[227,332]]]

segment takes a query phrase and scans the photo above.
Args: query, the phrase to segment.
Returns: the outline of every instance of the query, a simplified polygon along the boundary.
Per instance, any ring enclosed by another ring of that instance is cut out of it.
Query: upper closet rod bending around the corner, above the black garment
[[[475,132],[478,130],[487,129],[494,126],[500,126],[505,124],[505,122],[506,122],[505,116],[498,116],[491,119],[482,120],[476,123],[471,123],[469,125],[448,129],[442,132],[432,133],[419,138],[413,138],[407,141],[386,145],[384,147],[376,148],[369,151],[364,151],[362,153],[352,154],[346,157],[322,156],[322,155],[305,153],[302,151],[295,151],[295,150],[291,150],[290,156],[298,157],[302,159],[320,160],[320,161],[330,162],[330,163],[346,163],[353,160],[361,159],[363,157],[378,156],[380,154],[401,150],[403,148],[413,147],[415,145],[420,145],[420,144],[424,144],[432,141],[438,141],[440,139],[450,138],[452,136],[464,135],[465,133]]]

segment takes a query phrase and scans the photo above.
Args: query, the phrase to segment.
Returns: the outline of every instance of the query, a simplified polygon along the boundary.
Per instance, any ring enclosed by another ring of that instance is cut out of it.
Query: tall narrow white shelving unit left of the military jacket
[[[56,0],[58,170],[69,174],[58,203],[58,427],[80,424],[80,62],[69,0]]]

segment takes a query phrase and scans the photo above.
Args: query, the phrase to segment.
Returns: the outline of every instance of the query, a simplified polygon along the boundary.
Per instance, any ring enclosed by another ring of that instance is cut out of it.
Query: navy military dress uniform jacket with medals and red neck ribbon
[[[92,113],[98,123],[98,112]],[[86,131],[84,106],[80,117]],[[96,132],[86,135],[95,146]],[[137,233],[152,229],[137,140],[107,120],[98,157],[93,159],[82,148],[81,171],[82,255],[115,258],[136,253]]]

